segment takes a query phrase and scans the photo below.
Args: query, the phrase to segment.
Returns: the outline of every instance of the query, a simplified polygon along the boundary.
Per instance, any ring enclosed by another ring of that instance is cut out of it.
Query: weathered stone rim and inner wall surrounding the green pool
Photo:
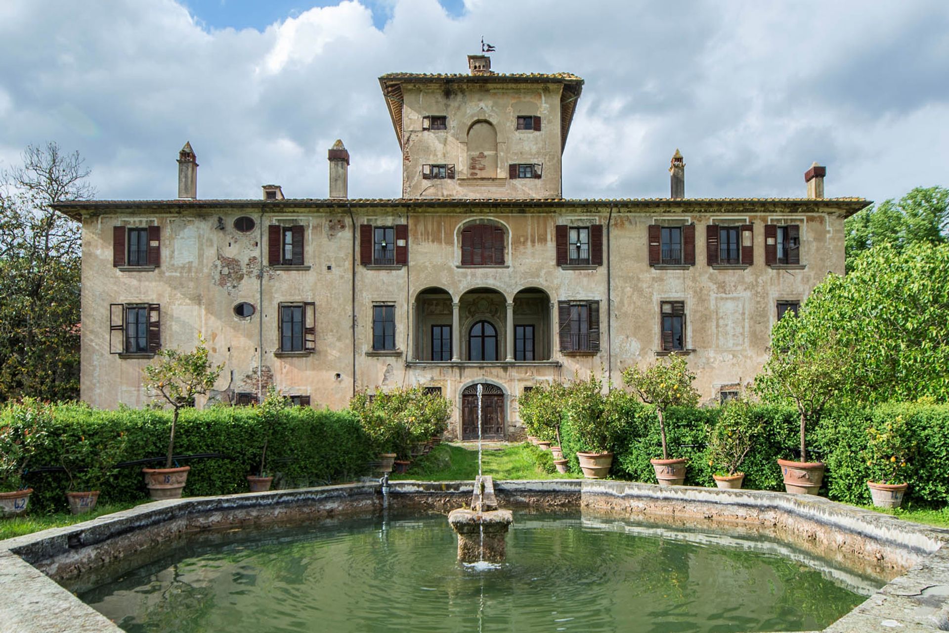
[[[502,507],[580,510],[597,517],[661,517],[695,530],[736,527],[769,533],[794,546],[850,562],[862,558],[892,579],[834,624],[828,633],[949,630],[949,530],[813,496],[720,491],[623,481],[551,479],[495,481]],[[370,481],[271,493],[157,501],[78,523],[0,541],[0,633],[120,631],[53,578],[120,560],[123,553],[168,547],[199,531],[249,524],[316,523],[347,513],[446,511],[466,505],[473,481],[393,481],[383,497]],[[516,514],[514,520],[516,521]]]

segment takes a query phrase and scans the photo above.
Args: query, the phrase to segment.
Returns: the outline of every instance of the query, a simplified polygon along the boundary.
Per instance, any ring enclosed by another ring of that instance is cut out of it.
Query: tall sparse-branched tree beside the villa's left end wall
[[[0,401],[79,394],[82,233],[52,209],[95,191],[78,152],[28,146],[0,173]]]

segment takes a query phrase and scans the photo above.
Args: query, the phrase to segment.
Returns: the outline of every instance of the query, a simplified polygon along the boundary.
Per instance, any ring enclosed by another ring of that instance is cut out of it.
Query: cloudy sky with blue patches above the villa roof
[[[377,78],[465,72],[481,37],[500,72],[586,80],[564,195],[827,195],[949,186],[945,0],[0,0],[0,167],[56,140],[100,198],[177,195],[190,140],[200,197],[274,182],[398,197],[400,152]]]

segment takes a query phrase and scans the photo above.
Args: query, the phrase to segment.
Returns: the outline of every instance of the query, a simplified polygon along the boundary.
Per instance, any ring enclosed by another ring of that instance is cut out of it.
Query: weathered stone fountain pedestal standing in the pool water
[[[499,510],[490,476],[474,479],[471,510],[458,508],[448,523],[458,534],[458,560],[462,563],[504,560],[505,537],[514,520],[510,510]]]

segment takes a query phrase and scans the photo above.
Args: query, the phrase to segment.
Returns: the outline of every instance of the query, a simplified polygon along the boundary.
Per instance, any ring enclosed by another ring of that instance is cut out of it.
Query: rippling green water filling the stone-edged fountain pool
[[[443,515],[233,531],[80,597],[126,631],[792,631],[882,580],[777,542],[514,513],[508,560],[456,561]],[[108,570],[105,570],[108,573]]]

